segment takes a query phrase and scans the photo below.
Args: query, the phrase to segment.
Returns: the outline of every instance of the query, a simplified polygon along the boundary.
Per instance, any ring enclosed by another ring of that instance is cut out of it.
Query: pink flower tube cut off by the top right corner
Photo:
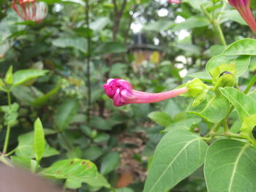
[[[250,0],[228,0],[230,5],[238,10],[239,14],[246,21],[248,26],[252,28],[252,31],[256,33],[256,22],[250,9]]]

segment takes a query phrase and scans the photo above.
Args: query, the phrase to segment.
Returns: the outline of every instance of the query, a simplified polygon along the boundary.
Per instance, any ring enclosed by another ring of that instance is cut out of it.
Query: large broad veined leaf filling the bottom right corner
[[[218,140],[208,147],[204,172],[208,192],[253,192],[256,150],[237,140]]]

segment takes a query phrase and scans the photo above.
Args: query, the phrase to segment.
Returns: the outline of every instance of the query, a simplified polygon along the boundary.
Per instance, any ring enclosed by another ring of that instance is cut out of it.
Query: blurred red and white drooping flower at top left
[[[37,0],[13,0],[12,8],[23,20],[32,20],[41,23],[46,17],[48,6]]]

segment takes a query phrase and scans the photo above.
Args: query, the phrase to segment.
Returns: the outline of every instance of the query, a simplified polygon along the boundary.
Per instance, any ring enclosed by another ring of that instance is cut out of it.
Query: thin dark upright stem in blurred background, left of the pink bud
[[[90,28],[89,22],[89,0],[86,0],[86,26]],[[91,37],[87,37],[87,89],[88,89],[88,101],[87,101],[87,122],[90,121],[90,110],[91,110],[91,74],[90,74],[90,62],[91,62]]]

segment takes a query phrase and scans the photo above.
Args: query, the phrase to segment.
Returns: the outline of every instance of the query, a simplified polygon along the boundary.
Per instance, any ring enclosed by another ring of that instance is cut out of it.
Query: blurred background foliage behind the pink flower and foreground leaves
[[[20,107],[9,149],[18,157],[33,158],[28,133],[39,117],[52,147],[42,167],[66,158],[85,158],[101,173],[100,179],[73,191],[109,191],[109,184],[119,192],[142,191],[148,162],[164,127],[183,123],[204,133],[211,123],[187,114],[189,101],[182,97],[159,104],[113,107],[102,85],[110,77],[121,78],[137,90],[159,92],[192,77],[209,80],[204,66],[224,46],[200,8],[203,2],[44,1],[48,16],[42,23],[21,20],[11,1],[0,1],[1,77],[11,65],[14,72],[49,70],[12,89],[12,101]],[[225,1],[204,2],[208,12],[219,18],[227,44],[254,36],[229,5],[222,12]],[[255,65],[251,65],[250,73],[241,78],[241,87],[254,72]],[[0,105],[7,105],[4,92],[0,92]],[[1,147],[6,132],[3,117],[2,111]],[[187,118],[194,121],[188,123]],[[178,184],[175,191],[206,191],[202,170]]]

